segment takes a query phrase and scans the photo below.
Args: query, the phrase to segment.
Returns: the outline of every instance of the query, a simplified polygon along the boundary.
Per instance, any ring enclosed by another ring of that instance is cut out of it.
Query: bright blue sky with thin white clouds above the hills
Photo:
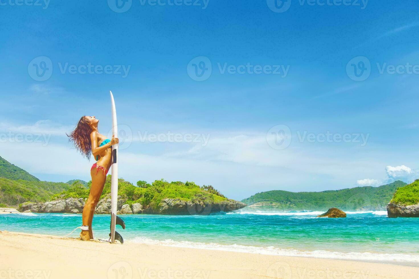
[[[112,90],[133,183],[243,199],[417,178],[419,3],[309,2],[2,1],[0,156],[42,180],[90,180],[65,132],[85,114],[107,134]],[[168,133],[180,140],[149,138]]]

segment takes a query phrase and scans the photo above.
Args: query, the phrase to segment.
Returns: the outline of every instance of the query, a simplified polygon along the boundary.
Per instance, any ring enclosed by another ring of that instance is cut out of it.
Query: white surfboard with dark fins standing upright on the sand
[[[111,104],[112,104],[112,135],[118,137],[118,122],[116,120],[116,109],[115,100],[112,91],[111,93]],[[115,239],[119,242],[124,243],[122,236],[115,231],[116,225],[121,225],[125,229],[125,223],[121,218],[116,216],[118,210],[118,145],[112,145],[112,180],[111,180],[111,237],[109,242],[115,243]]]

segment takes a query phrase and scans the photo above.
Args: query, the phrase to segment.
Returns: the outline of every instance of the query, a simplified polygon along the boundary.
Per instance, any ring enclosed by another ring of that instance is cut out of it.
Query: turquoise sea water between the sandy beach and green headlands
[[[135,243],[419,265],[419,218],[388,218],[386,212],[347,212],[347,218],[316,218],[323,212],[230,212],[210,216],[120,215],[117,227]],[[108,239],[109,215],[95,215],[95,238]],[[0,215],[0,230],[65,236],[81,214]],[[80,229],[70,237],[78,237]]]

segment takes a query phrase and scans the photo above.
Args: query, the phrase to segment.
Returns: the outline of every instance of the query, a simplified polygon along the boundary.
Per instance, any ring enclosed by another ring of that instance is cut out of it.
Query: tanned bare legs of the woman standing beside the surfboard
[[[83,208],[83,226],[89,226],[89,230],[82,230],[80,237],[82,240],[90,240],[91,236],[93,238],[93,232],[91,229],[93,214],[95,212],[95,207],[103,191],[103,186],[105,185],[106,176],[103,174],[102,170],[96,171],[96,168],[91,170],[92,185],[90,188],[89,198],[86,201],[86,204]]]

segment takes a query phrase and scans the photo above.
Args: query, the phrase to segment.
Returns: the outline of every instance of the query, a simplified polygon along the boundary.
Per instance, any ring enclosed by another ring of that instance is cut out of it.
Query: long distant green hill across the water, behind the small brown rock
[[[255,210],[327,210],[337,207],[341,210],[385,210],[393,194],[403,181],[379,187],[356,187],[351,189],[322,192],[288,192],[274,190],[257,193],[241,202],[248,204],[246,209]]]

